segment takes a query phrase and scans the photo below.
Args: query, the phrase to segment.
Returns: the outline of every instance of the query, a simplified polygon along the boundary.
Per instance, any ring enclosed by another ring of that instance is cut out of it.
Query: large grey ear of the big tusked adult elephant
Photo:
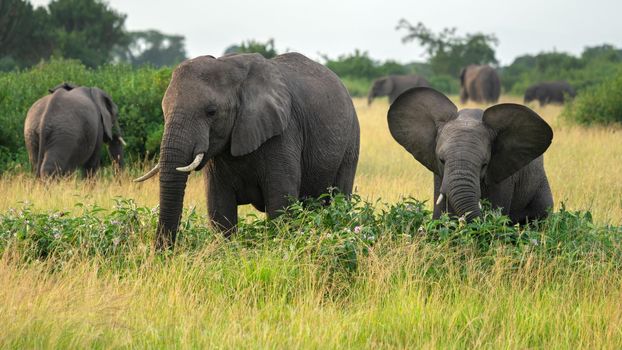
[[[235,59],[248,64],[231,133],[231,155],[243,156],[285,130],[291,117],[291,96],[285,78],[271,60],[259,55],[239,55]]]

